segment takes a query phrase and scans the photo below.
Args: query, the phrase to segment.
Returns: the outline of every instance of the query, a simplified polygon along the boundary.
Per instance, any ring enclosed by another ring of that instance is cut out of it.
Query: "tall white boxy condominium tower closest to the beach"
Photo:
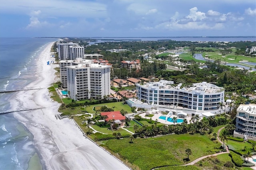
[[[102,99],[110,94],[110,65],[84,61],[66,67],[68,97],[74,100]]]

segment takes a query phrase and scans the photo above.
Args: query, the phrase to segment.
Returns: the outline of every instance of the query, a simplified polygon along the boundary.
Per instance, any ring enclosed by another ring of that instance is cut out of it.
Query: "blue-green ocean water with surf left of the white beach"
[[[0,38],[0,91],[26,89],[35,81],[36,61],[51,38]],[[9,111],[14,93],[0,93],[0,112]],[[21,108],[22,109],[22,108]],[[42,169],[33,135],[13,114],[0,115],[0,169]]]

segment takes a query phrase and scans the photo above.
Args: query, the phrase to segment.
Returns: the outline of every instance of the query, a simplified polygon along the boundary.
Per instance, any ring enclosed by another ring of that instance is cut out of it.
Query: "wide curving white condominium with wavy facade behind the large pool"
[[[154,105],[174,105],[192,111],[212,111],[224,102],[224,88],[202,82],[192,87],[174,85],[173,81],[161,80],[144,85],[136,84],[140,101]]]

